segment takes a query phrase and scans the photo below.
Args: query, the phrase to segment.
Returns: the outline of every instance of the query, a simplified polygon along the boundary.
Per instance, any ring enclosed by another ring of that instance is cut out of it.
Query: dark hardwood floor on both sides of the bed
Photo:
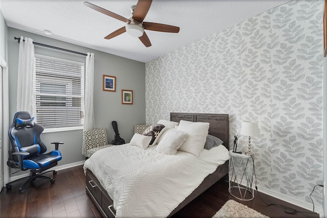
[[[49,173],[50,174],[50,173]],[[37,179],[28,185],[26,192],[18,192],[18,182],[12,189],[1,191],[0,217],[102,217],[85,192],[83,166],[58,171],[56,182]],[[260,193],[267,204],[276,203],[298,211],[311,212]],[[228,182],[217,182],[198,198],[174,214],[173,217],[212,217],[229,199],[240,202],[270,217],[319,217],[318,214],[288,214],[283,208],[266,207],[255,192],[252,201],[239,201],[228,193]]]

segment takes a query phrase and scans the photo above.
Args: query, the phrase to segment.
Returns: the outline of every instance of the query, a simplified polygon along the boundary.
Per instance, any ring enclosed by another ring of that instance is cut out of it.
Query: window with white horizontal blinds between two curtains
[[[44,128],[76,129],[83,126],[83,111],[84,63],[35,55],[36,122]]]

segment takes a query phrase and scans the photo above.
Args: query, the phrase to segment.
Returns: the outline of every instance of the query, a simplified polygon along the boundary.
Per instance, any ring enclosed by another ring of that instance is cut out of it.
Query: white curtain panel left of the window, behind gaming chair
[[[17,79],[17,111],[28,111],[33,115],[33,70],[34,45],[31,38],[20,36],[18,79]]]

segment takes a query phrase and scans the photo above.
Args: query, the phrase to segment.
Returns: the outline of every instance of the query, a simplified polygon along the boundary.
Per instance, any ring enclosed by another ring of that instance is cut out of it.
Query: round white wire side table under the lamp
[[[253,159],[242,152],[238,154],[229,150],[230,160],[228,165],[229,188],[228,192],[235,198],[250,201],[254,198]],[[245,186],[241,183],[244,180]]]

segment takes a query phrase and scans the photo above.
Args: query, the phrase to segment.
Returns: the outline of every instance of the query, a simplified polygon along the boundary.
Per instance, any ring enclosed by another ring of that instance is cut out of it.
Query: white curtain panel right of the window
[[[85,70],[85,94],[84,94],[84,126],[83,131],[94,129],[94,111],[93,111],[93,90],[94,90],[94,54],[87,53]],[[82,147],[84,155],[84,141]]]

